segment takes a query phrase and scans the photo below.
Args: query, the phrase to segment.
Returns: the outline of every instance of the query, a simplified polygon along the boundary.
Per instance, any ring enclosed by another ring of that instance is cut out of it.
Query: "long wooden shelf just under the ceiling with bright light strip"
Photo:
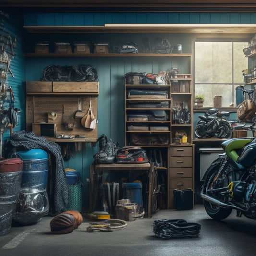
[[[145,8],[144,8],[145,9]],[[254,34],[254,24],[104,24],[102,26],[24,26],[29,33],[203,33]]]

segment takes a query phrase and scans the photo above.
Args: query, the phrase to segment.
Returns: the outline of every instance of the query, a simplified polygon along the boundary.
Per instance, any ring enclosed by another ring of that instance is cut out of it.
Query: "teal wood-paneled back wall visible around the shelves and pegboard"
[[[108,23],[184,23],[184,24],[254,24],[256,13],[24,13],[24,26],[103,26]],[[181,43],[184,53],[192,52],[193,35],[190,34],[106,34],[106,33],[81,33],[81,34],[38,34],[23,31],[26,38],[24,52],[33,52],[35,41],[75,42],[110,42],[113,47],[120,41],[133,41],[141,43],[144,37],[153,40],[154,37],[169,39],[172,44]],[[99,75],[98,97],[98,136],[106,134],[119,146],[124,146],[124,74],[134,72],[157,73],[161,70],[178,67],[180,73],[188,73],[189,70],[181,60],[169,60],[169,58],[35,58],[26,57],[24,65],[24,81],[40,80],[44,67],[51,64],[77,65],[90,64],[95,67]],[[190,63],[187,63],[190,68]],[[25,118],[25,117],[24,117]],[[82,174],[83,206],[88,207],[89,190],[86,178],[89,177],[92,155],[97,147],[90,144],[84,145],[82,151],[72,150],[74,158],[66,162],[66,167],[74,168]]]

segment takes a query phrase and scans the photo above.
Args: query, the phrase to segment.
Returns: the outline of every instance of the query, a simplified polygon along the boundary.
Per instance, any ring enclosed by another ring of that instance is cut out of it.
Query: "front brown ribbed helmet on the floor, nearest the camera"
[[[71,233],[76,227],[74,216],[68,213],[60,213],[50,221],[51,231],[55,234]]]

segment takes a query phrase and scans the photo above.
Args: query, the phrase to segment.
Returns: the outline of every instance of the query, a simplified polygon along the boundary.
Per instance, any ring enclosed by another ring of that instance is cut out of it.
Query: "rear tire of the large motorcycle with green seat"
[[[211,186],[214,178],[216,177],[218,171],[219,171],[219,165],[215,166],[207,175],[206,179],[205,179],[205,182],[204,182],[204,185],[203,185],[203,193],[207,195],[207,190],[209,189],[209,187]],[[227,179],[225,179],[221,185],[222,186],[227,186],[229,184],[229,181]],[[223,201],[223,196],[219,196],[218,198],[215,197],[215,199],[217,200],[220,200],[220,201]],[[215,219],[215,220],[222,220],[222,219],[225,219],[227,218],[230,213],[232,212],[232,208],[222,208],[222,207],[219,207],[215,204],[212,204],[206,200],[203,201],[204,202],[204,207],[205,207],[205,210],[207,212],[207,214],[212,218],[212,219]]]

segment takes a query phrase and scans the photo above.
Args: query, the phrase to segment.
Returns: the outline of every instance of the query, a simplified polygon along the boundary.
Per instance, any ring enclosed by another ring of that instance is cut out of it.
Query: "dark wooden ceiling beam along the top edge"
[[[0,6],[44,12],[256,12],[255,0],[0,0]]]

